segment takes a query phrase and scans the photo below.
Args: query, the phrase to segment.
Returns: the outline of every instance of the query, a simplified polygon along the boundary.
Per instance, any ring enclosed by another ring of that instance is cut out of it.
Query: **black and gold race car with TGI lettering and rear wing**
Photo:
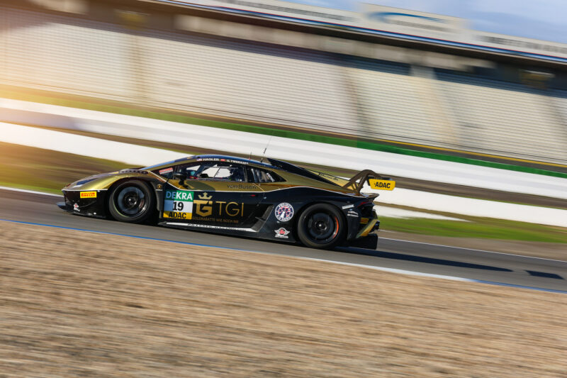
[[[242,235],[312,248],[376,248],[376,194],[395,182],[365,170],[342,179],[281,160],[199,155],[86,177],[62,189],[82,216]]]

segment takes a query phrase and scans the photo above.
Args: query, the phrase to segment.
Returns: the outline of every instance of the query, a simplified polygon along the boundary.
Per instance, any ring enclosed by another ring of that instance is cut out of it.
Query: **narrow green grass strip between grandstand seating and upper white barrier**
[[[241,123],[230,123],[230,122],[223,122],[223,121],[213,121],[208,119],[202,118],[195,118],[191,116],[184,116],[181,114],[173,114],[173,113],[164,113],[158,111],[145,111],[142,109],[135,109],[126,106],[126,104],[120,104],[119,106],[114,105],[107,105],[107,104],[98,104],[94,102],[86,102],[86,101],[78,101],[74,99],[62,99],[52,96],[43,96],[37,94],[23,94],[18,93],[16,91],[0,91],[0,96],[8,97],[12,99],[21,99],[26,101],[34,101],[43,104],[52,104],[52,105],[59,105],[59,106],[68,106],[72,108],[78,109],[88,109],[94,111],[104,111],[107,113],[116,113],[116,114],[124,114],[128,116],[140,116],[145,118],[154,118],[164,121],[172,121],[178,123],[191,123],[194,125],[200,126],[208,126],[214,128],[222,128],[222,129],[229,129],[229,130],[238,130],[238,131],[245,131],[247,133],[257,133],[263,135],[274,135],[279,136],[282,138],[291,138],[291,139],[298,139],[298,140],[310,140],[313,142],[318,143],[327,143],[330,145],[342,145],[347,147],[354,147],[354,148],[361,148],[364,150],[374,150],[374,151],[382,151],[382,152],[392,152],[400,155],[408,155],[408,156],[416,156],[416,157],[426,157],[429,159],[435,160],[444,160],[450,162],[460,162],[464,164],[470,165],[479,165],[483,167],[493,167],[498,169],[507,169],[517,172],[527,172],[533,174],[543,174],[546,176],[553,176],[553,177],[563,177],[567,178],[567,173],[564,172],[556,172],[554,170],[549,169],[540,169],[535,167],[526,167],[522,165],[514,165],[514,164],[506,164],[502,162],[492,162],[486,160],[478,160],[473,159],[470,157],[461,157],[461,156],[453,156],[453,155],[444,155],[443,153],[439,152],[427,152],[422,150],[412,150],[410,146],[400,147],[398,145],[388,145],[385,143],[380,143],[379,141],[371,141],[371,140],[356,140],[356,139],[348,139],[348,138],[340,138],[335,136],[328,136],[328,135],[317,135],[313,133],[308,133],[305,131],[298,131],[298,130],[282,130],[279,128],[269,128],[264,126],[252,126],[252,125],[245,125]],[[552,169],[553,166],[550,166]]]

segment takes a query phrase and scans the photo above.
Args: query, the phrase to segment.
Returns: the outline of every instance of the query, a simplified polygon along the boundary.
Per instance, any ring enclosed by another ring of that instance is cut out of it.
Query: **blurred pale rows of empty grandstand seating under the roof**
[[[0,84],[567,164],[567,91],[496,69],[471,74],[2,5],[0,51]]]

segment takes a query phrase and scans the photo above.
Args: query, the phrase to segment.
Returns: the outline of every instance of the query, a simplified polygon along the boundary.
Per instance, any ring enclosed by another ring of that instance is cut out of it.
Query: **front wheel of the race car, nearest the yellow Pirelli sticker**
[[[155,196],[145,182],[121,182],[111,189],[108,211],[116,221],[142,223],[155,211]]]

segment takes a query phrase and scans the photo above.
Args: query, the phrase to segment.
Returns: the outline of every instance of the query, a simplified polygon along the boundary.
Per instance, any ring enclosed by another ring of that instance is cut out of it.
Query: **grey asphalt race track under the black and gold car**
[[[249,238],[74,216],[60,210],[55,205],[57,201],[62,201],[62,197],[0,189],[0,218],[567,292],[567,262],[556,260],[387,238],[379,240],[378,250],[321,251]]]

